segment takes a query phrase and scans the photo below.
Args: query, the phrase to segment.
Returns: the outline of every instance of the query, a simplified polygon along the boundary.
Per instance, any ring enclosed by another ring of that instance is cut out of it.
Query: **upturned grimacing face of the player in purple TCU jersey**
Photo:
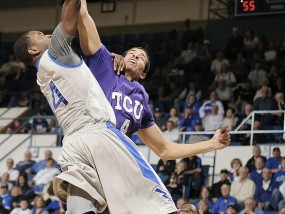
[[[143,50],[139,48],[129,50],[125,56],[126,71],[132,74],[133,79],[140,79],[141,75],[144,75],[147,60],[147,55]]]

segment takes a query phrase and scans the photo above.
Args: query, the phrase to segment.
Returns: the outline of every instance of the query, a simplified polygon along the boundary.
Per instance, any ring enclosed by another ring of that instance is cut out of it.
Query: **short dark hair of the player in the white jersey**
[[[28,53],[30,47],[30,38],[28,37],[28,34],[29,32],[26,32],[17,39],[14,45],[14,54],[25,65],[32,66],[33,58]]]

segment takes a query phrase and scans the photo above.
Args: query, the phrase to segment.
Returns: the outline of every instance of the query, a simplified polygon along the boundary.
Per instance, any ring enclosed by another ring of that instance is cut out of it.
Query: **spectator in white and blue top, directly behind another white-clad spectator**
[[[218,113],[222,116],[224,115],[224,106],[222,102],[218,100],[217,92],[211,91],[210,99],[205,101],[199,109],[199,116],[201,119],[205,118],[208,114],[211,113],[212,104],[214,103],[218,106]]]

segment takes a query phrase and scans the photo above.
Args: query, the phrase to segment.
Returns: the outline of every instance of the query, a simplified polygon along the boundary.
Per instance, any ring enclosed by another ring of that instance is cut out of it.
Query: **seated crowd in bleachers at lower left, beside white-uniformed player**
[[[14,164],[8,158],[6,166],[1,169],[1,213],[65,213],[64,205],[48,193],[54,176],[60,173],[50,150],[45,150],[44,159],[39,161],[34,161],[31,152],[26,151],[22,161]]]

